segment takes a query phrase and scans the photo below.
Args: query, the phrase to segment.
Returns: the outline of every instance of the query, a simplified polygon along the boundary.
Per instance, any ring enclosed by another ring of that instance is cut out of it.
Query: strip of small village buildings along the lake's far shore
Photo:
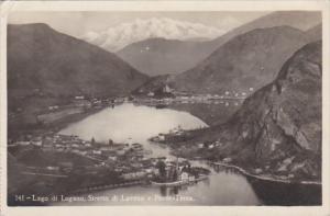
[[[172,103],[223,103],[226,106],[229,106],[230,100],[244,100],[253,92],[254,88],[251,87],[246,92],[224,91],[222,94],[194,94],[187,92],[177,92],[166,84],[155,91],[139,90],[134,94],[116,98],[75,95],[66,104],[52,103],[38,107],[34,115],[36,115],[36,123],[51,124],[68,115],[81,114],[91,110],[100,110],[107,106],[113,107],[125,102],[145,104],[156,107],[163,107],[162,105],[168,105]],[[43,94],[36,94],[35,96],[43,96]],[[239,103],[235,102],[234,105],[239,105]],[[16,118],[26,116],[26,113],[29,112],[31,111],[26,111],[25,107],[19,106],[15,110],[9,110],[8,116],[11,122],[15,122]]]

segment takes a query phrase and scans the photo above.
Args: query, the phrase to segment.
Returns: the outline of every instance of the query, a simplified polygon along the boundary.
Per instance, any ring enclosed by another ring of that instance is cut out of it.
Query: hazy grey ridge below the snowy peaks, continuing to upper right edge
[[[307,31],[321,22],[319,12],[274,12],[239,26],[211,41],[191,42],[184,37],[150,38],[132,43],[117,54],[138,70],[150,75],[179,73],[194,68],[229,39],[255,29],[292,26]],[[216,34],[215,34],[216,35]],[[219,34],[220,35],[220,34]],[[107,48],[106,46],[102,46]]]

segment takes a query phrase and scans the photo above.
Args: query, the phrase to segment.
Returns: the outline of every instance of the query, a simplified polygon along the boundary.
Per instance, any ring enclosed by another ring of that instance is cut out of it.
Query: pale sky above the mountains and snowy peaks
[[[72,36],[80,37],[86,32],[105,31],[134,19],[169,18],[201,23],[229,31],[270,12],[12,12],[9,23],[46,23],[51,27]]]

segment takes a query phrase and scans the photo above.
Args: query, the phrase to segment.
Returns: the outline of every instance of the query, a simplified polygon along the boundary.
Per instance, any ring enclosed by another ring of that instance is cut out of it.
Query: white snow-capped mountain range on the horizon
[[[135,19],[103,32],[88,32],[82,39],[110,52],[118,52],[124,46],[146,38],[162,37],[166,39],[211,39],[224,32],[200,23],[177,21],[168,18]]]

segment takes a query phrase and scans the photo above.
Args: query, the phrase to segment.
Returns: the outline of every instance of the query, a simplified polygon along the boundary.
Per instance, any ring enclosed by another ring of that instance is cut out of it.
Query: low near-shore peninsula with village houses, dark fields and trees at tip
[[[138,184],[177,186],[205,180],[209,173],[187,160],[151,158],[151,151],[136,143],[97,143],[54,133],[30,138],[8,145],[9,152],[24,164],[21,174],[45,181],[61,193]]]

